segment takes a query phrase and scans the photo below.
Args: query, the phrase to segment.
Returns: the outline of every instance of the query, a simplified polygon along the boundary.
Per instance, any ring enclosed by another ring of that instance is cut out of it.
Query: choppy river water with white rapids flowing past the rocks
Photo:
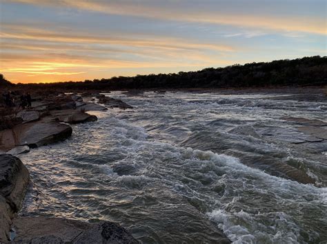
[[[22,214],[117,221],[143,243],[217,243],[221,232],[235,243],[326,243],[326,140],[293,143],[304,135],[281,119],[327,122],[326,102],[109,96],[134,109],[95,112],[70,139],[21,157],[32,177]]]

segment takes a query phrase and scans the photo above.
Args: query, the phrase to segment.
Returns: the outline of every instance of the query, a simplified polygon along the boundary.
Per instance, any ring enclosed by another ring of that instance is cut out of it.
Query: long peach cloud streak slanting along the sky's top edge
[[[165,1],[165,4],[159,4],[158,1],[44,0],[41,3],[37,0],[14,1],[34,5],[45,5],[48,7],[76,8],[83,11],[136,16],[166,21],[211,23],[272,30],[275,32],[308,32],[326,35],[326,19],[324,17],[311,17],[308,19],[301,15],[281,16],[279,14],[273,15],[265,12],[262,14],[260,12],[257,14],[242,14],[239,10],[224,12],[219,10],[220,6],[224,7],[224,1],[218,1],[213,11],[208,8],[199,10],[206,2],[193,6],[190,4],[192,1]],[[281,8],[282,6],[283,4],[281,4]],[[222,10],[224,10],[224,8],[222,8]]]

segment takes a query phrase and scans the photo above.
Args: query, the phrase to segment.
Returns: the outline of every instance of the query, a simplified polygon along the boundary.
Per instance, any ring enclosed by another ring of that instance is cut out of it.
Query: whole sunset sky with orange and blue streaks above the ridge
[[[326,0],[0,0],[0,73],[93,80],[326,56]]]

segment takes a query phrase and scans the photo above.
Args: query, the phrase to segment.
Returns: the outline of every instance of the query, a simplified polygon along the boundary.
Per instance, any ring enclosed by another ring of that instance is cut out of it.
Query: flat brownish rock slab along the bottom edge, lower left
[[[11,243],[139,243],[117,223],[18,217],[13,220],[16,238]]]

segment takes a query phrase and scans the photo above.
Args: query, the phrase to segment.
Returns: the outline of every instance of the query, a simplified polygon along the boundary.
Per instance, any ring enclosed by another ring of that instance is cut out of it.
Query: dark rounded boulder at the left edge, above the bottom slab
[[[18,157],[0,155],[0,195],[14,212],[21,208],[29,179],[28,169]]]

